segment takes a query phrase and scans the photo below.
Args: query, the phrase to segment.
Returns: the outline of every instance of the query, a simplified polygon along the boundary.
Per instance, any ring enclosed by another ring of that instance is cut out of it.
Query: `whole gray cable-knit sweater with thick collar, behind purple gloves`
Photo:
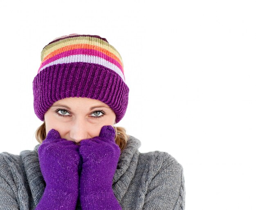
[[[0,210],[32,210],[45,189],[38,147],[20,155],[0,153]],[[183,210],[182,166],[167,152],[140,153],[130,136],[121,153],[112,189],[123,210]],[[81,209],[78,200],[76,209]]]

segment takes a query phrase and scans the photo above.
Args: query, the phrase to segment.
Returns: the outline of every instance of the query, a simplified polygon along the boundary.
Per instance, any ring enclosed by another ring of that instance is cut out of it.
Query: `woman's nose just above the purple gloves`
[[[83,119],[77,119],[74,121],[70,128],[70,139],[76,143],[80,144],[83,139],[90,139],[88,122]]]

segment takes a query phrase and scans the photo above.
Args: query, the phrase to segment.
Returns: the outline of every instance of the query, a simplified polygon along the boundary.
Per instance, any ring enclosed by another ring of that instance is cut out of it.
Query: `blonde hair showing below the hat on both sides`
[[[128,141],[128,134],[126,134],[126,129],[124,127],[115,127],[115,142],[119,146],[121,152],[126,147],[126,143]],[[43,143],[43,141],[46,138],[46,130],[45,130],[45,122],[43,122],[42,125],[36,129],[36,141],[38,141],[40,144]]]

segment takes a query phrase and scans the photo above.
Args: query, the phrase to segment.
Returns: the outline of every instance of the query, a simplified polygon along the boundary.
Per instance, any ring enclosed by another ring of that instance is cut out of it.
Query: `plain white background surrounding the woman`
[[[186,209],[256,209],[254,1],[0,4],[0,152],[38,144],[32,81],[43,47],[99,35],[121,54],[130,88],[117,125],[141,141],[140,152],[168,152],[182,164]]]

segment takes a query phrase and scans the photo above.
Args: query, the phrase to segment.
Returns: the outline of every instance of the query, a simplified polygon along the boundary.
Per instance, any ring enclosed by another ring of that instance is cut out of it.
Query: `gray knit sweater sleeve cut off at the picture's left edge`
[[[0,154],[0,210],[18,210],[19,205],[16,201],[12,186],[15,186],[9,165]]]

